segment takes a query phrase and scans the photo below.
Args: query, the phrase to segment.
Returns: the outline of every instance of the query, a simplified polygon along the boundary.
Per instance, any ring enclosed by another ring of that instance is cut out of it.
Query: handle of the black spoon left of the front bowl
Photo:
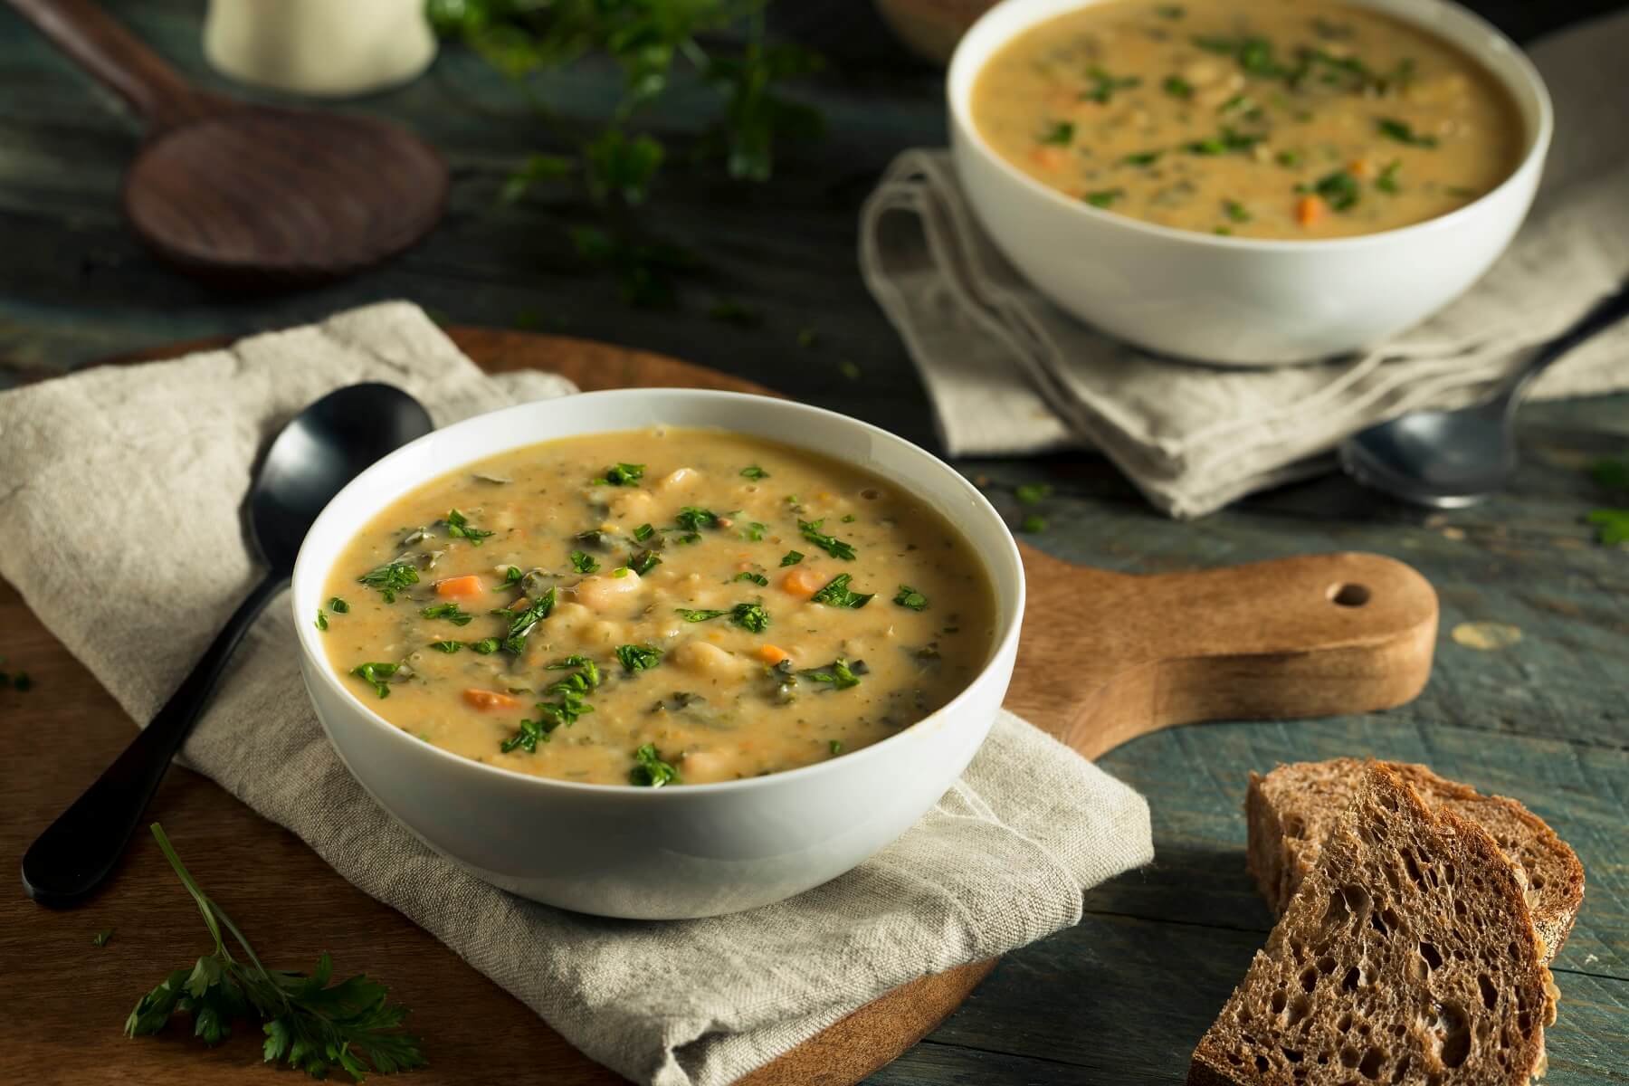
[[[169,759],[181,749],[181,741],[209,703],[231,651],[285,585],[288,578],[282,573],[267,573],[254,586],[153,721],[29,845],[23,856],[23,889],[29,897],[52,909],[77,905],[112,873],[148,801],[158,791]]]

